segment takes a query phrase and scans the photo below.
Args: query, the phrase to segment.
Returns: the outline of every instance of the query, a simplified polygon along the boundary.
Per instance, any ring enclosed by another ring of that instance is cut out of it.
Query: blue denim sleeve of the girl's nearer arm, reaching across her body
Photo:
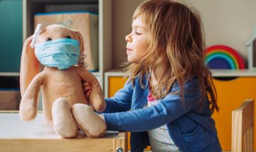
[[[171,92],[179,91],[176,84]],[[127,112],[116,112],[104,114],[108,130],[143,132],[152,130],[169,123],[198,106],[200,93],[198,82],[191,79],[184,86],[184,102],[179,95],[169,93],[166,97],[158,100],[154,106],[132,110]]]

